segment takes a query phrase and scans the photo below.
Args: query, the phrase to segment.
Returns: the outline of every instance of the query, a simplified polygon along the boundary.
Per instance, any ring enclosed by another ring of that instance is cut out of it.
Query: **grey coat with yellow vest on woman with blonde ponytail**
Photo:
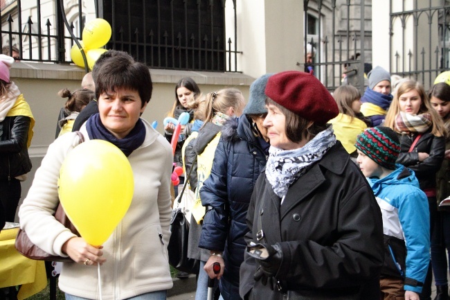
[[[197,137],[189,142],[185,152],[186,166],[188,166],[188,164],[193,165],[194,170],[197,170],[197,179],[195,179],[197,182],[195,186],[197,209],[191,209],[192,217],[189,227],[188,257],[197,258],[201,261],[208,261],[210,252],[205,249],[199,249],[199,238],[201,233],[201,224],[199,224],[199,222],[203,219],[196,220],[195,211],[201,211],[201,218],[203,218],[205,208],[201,206],[199,191],[204,184],[204,180],[210,175],[215,149],[220,139],[220,129],[221,127],[219,125],[210,122],[204,124],[204,127],[201,127],[199,130]],[[192,154],[192,152],[195,154]],[[195,157],[197,157],[197,161],[195,161]],[[187,168],[186,171],[189,172]]]

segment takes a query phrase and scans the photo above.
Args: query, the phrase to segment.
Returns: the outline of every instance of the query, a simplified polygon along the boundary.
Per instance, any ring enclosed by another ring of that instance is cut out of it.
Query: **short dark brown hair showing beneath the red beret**
[[[326,124],[318,124],[318,123],[313,123],[310,127],[308,127],[308,123],[311,121],[308,121],[307,119],[298,116],[298,114],[291,112],[289,109],[287,109],[282,105],[279,105],[271,98],[266,99],[266,104],[278,107],[278,109],[281,110],[282,114],[285,115],[286,136],[290,141],[293,141],[294,143],[298,143],[303,139],[307,139],[307,137],[313,138],[319,132],[322,132],[327,128]]]

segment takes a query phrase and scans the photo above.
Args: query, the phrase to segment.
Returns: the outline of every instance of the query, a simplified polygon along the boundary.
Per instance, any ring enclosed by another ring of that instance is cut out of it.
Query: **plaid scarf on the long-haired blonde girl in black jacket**
[[[433,125],[431,114],[406,114],[406,112],[399,112],[395,117],[394,129],[401,134],[411,132],[424,133],[430,129],[431,125]]]

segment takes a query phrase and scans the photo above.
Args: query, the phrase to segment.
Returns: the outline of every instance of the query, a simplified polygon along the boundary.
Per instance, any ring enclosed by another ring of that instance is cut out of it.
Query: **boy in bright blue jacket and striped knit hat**
[[[372,127],[357,138],[357,163],[383,215],[385,259],[380,299],[419,299],[430,260],[428,200],[413,170],[395,161],[397,134]]]

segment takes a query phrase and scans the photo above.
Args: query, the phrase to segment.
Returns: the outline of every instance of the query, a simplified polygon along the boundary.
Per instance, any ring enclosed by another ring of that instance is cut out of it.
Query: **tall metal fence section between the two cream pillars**
[[[310,44],[314,75],[330,91],[348,83],[362,92],[364,70],[371,68],[371,1],[304,0],[303,6],[305,61]]]

